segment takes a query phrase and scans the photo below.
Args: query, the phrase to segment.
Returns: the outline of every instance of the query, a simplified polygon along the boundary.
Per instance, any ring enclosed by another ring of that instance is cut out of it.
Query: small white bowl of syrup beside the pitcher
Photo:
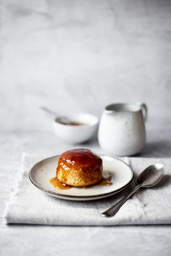
[[[54,131],[57,136],[68,144],[79,144],[88,141],[97,131],[99,119],[90,114],[79,113],[65,115],[70,122],[83,123],[83,125],[65,125],[62,122],[62,117],[54,119]]]

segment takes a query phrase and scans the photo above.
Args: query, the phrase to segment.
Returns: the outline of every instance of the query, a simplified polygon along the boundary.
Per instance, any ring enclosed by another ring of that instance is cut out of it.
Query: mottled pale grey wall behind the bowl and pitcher
[[[2,130],[50,129],[40,105],[101,115],[123,101],[169,127],[170,66],[171,1],[1,0]]]

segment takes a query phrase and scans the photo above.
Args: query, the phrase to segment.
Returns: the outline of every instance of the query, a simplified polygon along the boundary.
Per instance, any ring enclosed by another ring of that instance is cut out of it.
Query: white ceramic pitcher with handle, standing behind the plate
[[[141,152],[146,141],[146,104],[110,104],[99,123],[99,144],[105,152],[128,156]]]

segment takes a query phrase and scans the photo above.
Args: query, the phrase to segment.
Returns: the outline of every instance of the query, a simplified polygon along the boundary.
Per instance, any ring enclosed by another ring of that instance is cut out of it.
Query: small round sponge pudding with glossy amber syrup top
[[[102,178],[102,160],[89,149],[73,149],[59,158],[57,178],[71,186],[90,186]]]

